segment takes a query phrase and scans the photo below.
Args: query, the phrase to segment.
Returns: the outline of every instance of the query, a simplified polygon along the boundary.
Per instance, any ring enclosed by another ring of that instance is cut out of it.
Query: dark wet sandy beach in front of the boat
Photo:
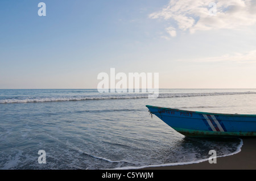
[[[147,168],[155,170],[255,170],[256,169],[256,138],[242,138],[243,145],[237,154],[219,157],[217,163],[208,161],[180,166],[163,166]]]

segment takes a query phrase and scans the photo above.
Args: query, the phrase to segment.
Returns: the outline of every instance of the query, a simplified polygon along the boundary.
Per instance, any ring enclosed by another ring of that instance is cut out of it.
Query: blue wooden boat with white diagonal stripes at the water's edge
[[[256,115],[185,111],[146,106],[175,131],[187,137],[256,136]]]

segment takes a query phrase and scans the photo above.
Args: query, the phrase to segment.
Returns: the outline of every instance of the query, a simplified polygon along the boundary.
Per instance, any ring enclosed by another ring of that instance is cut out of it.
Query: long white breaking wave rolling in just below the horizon
[[[193,96],[217,96],[217,95],[241,95],[256,94],[256,92],[191,92],[191,93],[160,93],[158,98],[183,98]],[[60,102],[60,101],[80,101],[80,100],[103,100],[103,99],[144,99],[150,93],[117,93],[117,94],[97,94],[97,95],[74,95],[74,96],[53,96],[44,98],[9,98],[2,99],[0,103],[37,103],[37,102]]]

